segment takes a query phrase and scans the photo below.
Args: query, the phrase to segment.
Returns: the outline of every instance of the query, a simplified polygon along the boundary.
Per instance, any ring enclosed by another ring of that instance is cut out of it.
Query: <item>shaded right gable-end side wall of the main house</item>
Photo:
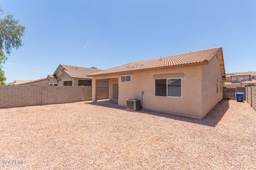
[[[217,80],[219,82],[218,93]],[[215,56],[208,65],[202,67],[202,111],[204,115],[223,98],[223,81],[219,61]]]

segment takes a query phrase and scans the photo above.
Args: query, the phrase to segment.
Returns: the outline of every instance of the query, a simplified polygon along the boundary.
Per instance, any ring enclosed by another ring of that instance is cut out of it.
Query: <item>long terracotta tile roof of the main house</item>
[[[222,54],[221,47],[200,50],[197,52],[172,55],[172,56],[158,57],[151,60],[138,61],[134,63],[117,66],[108,70],[100,71],[98,73],[89,74],[89,76],[127,72],[127,71],[138,71],[138,70],[144,70],[144,69],[154,69],[154,68],[167,67],[167,66],[181,66],[181,65],[187,65],[187,64],[191,65],[194,63],[207,64],[219,52],[221,52]],[[222,56],[222,63],[223,63],[223,56]],[[222,77],[225,77],[224,63],[222,64],[221,70],[223,72]]]

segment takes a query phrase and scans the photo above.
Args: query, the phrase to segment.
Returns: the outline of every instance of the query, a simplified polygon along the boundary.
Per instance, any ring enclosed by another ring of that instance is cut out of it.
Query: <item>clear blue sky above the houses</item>
[[[256,71],[256,1],[2,0],[26,26],[6,82],[45,78],[61,64],[117,65],[222,47],[226,72]]]

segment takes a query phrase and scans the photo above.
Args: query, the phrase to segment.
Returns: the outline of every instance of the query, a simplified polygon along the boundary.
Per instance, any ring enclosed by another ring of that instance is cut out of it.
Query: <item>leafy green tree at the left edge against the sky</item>
[[[22,37],[25,35],[25,27],[15,20],[12,14],[6,14],[0,9],[0,85],[4,84],[3,64],[10,56],[12,49],[18,49],[22,44]]]

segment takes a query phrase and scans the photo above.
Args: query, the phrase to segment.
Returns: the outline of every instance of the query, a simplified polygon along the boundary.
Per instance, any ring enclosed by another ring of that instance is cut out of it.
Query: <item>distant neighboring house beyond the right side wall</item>
[[[256,86],[256,72],[239,72],[239,73],[229,73],[226,75],[226,82],[224,87],[236,88],[236,87],[246,87],[246,86]]]

